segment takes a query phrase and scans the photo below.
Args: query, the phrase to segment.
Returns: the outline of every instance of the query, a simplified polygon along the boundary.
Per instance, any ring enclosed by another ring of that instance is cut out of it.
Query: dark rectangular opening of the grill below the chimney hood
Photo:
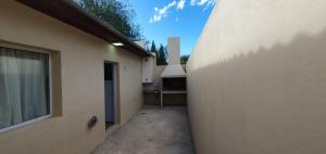
[[[187,84],[185,77],[162,78],[163,90],[183,90],[186,91]]]

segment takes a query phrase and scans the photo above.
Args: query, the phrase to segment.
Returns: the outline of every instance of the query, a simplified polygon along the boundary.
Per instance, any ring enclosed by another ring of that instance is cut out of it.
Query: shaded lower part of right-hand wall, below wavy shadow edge
[[[326,29],[188,68],[197,153],[324,154]]]

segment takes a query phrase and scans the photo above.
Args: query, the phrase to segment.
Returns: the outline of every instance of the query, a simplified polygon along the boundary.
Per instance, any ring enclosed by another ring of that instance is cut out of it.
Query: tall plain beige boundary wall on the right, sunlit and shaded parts
[[[198,154],[324,154],[326,1],[218,0],[187,64]]]

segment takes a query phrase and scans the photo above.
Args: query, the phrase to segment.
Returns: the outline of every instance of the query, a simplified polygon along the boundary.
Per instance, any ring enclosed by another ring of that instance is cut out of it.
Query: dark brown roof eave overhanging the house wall
[[[83,31],[101,38],[109,43],[122,42],[123,48],[139,56],[150,56],[143,48],[129,40],[125,35],[121,34],[113,27],[106,25],[104,22],[95,15],[78,8],[71,0],[16,0],[37,11],[40,11],[51,17],[54,17],[63,23],[72,25]]]

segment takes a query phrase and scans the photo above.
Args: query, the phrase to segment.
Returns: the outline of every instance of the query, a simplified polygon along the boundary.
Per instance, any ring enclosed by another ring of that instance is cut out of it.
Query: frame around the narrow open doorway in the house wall
[[[104,65],[112,64],[113,66],[113,101],[114,101],[114,125],[121,124],[121,105],[120,105],[120,68],[118,63],[112,61],[104,61],[103,63],[103,73],[105,73]],[[104,85],[104,79],[103,79]],[[104,90],[104,106],[105,106],[105,90]],[[104,107],[104,124],[105,124],[105,113],[106,110]],[[104,125],[105,126],[105,125]]]

